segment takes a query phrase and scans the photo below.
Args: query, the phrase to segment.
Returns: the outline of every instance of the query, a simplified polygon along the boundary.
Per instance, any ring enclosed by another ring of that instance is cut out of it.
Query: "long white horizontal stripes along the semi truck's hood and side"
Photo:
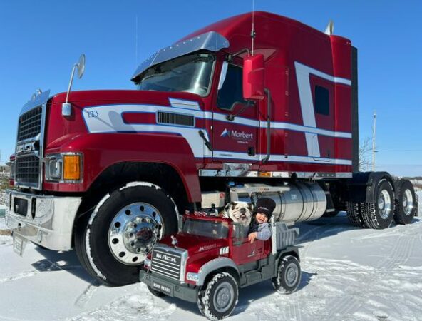
[[[181,106],[181,105],[180,105]],[[183,106],[189,106],[183,105]],[[163,124],[137,124],[137,123],[125,123],[123,121],[123,113],[155,113],[156,111],[163,110],[165,107],[166,111],[180,112],[181,109],[185,109],[185,113],[189,113],[196,118],[214,119],[217,121],[225,121],[231,123],[225,119],[224,114],[203,112],[196,110],[187,111],[186,108],[180,107],[167,107],[167,106],[156,106],[156,105],[105,105],[105,106],[93,106],[83,109],[83,119],[86,123],[86,127],[90,133],[119,133],[119,132],[160,132],[160,133],[173,133],[183,136],[187,143],[189,143],[195,158],[211,158],[212,152],[205,146],[204,141],[198,135],[200,128],[185,128],[180,126],[167,126]],[[254,121],[247,118],[237,117],[237,123],[247,126],[259,127],[259,121]],[[262,122],[262,126],[266,125]],[[301,131],[304,133],[317,133],[319,135],[326,135],[332,137],[344,137],[351,138],[351,133],[341,133],[334,131],[326,131],[321,128],[309,128],[307,126],[295,125],[292,123],[274,122],[272,128],[277,129],[289,129],[292,131]],[[210,136],[205,129],[202,129],[205,137],[210,141]],[[266,155],[259,155],[262,159]],[[257,156],[248,156],[246,153],[235,153],[232,151],[214,151],[215,158],[227,158],[232,160],[248,160],[256,161]],[[339,165],[351,165],[351,161],[333,158],[315,158],[309,156],[288,156],[284,158],[284,155],[272,155],[270,161],[290,161],[300,163],[336,163]]]

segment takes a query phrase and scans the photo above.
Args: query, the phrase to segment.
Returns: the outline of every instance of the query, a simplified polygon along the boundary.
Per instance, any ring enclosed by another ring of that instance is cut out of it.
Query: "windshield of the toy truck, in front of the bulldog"
[[[229,224],[220,220],[192,220],[187,218],[182,231],[206,238],[227,238]]]

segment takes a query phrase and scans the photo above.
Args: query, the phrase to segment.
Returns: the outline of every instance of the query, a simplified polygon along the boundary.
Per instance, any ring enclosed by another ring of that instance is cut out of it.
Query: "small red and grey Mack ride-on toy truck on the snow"
[[[279,292],[296,290],[301,278],[297,228],[277,222],[272,238],[249,243],[245,227],[230,218],[185,215],[180,231],[148,253],[140,281],[153,295],[197,302],[210,320],[229,316],[239,287],[272,280]]]

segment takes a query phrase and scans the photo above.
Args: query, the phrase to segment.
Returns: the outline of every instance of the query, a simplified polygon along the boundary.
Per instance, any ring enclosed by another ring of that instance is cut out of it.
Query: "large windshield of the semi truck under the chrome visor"
[[[140,76],[140,91],[186,91],[206,96],[215,56],[190,54],[159,63]]]

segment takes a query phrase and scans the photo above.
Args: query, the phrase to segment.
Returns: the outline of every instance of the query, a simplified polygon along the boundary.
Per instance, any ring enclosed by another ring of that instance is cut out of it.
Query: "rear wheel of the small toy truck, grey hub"
[[[282,294],[294,292],[301,280],[300,263],[293,255],[285,255],[279,260],[277,277],[271,279],[274,290]]]

